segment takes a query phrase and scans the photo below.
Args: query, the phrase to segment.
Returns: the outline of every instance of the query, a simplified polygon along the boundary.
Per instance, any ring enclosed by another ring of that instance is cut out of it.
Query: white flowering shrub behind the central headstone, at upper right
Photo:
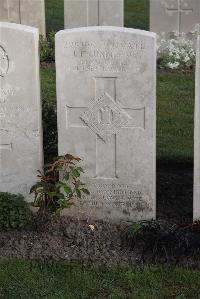
[[[174,33],[158,37],[158,67],[161,69],[191,70],[195,65],[196,33]]]

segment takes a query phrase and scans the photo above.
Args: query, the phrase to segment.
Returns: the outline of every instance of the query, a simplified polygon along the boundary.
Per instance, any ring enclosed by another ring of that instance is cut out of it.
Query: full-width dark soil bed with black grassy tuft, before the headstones
[[[200,229],[188,227],[162,235],[148,229],[148,233],[135,238],[127,234],[125,224],[98,221],[94,230],[91,224],[61,218],[46,225],[33,223],[23,231],[0,231],[0,259],[64,260],[107,266],[162,264],[200,269]]]

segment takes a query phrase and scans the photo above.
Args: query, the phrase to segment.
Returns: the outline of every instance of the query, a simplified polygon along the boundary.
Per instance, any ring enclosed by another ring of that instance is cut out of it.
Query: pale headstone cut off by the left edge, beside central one
[[[0,23],[0,191],[29,197],[42,168],[38,29]]]

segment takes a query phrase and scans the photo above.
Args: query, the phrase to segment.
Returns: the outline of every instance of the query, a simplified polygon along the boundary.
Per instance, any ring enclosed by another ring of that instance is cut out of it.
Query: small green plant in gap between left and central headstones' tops
[[[40,37],[40,61],[55,62],[55,32],[51,31],[47,38]]]

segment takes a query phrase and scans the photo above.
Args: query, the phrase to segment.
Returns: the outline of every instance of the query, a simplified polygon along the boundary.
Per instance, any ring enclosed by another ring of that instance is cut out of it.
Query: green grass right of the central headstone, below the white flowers
[[[194,76],[158,74],[157,160],[193,160]]]

